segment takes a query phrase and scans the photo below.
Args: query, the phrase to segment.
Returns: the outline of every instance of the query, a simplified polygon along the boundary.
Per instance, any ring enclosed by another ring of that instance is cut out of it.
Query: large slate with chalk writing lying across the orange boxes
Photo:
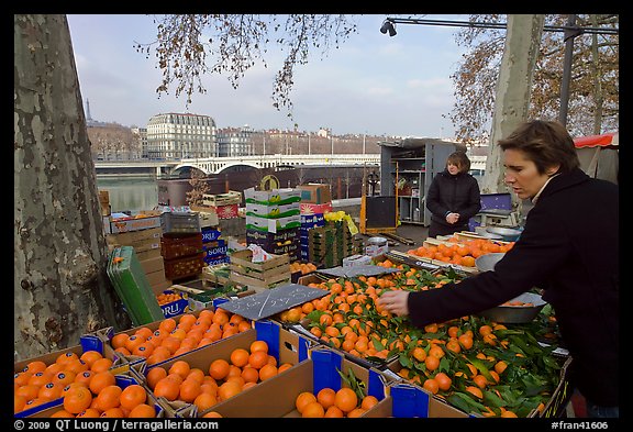
[[[260,320],[327,295],[330,291],[304,285],[289,284],[252,296],[225,301],[218,306],[249,320]]]

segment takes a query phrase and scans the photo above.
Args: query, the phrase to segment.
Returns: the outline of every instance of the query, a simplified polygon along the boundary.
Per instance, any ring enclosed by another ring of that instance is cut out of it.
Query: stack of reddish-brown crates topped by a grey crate
[[[160,218],[160,254],[165,264],[165,276],[175,281],[200,275],[204,254],[198,213],[165,212]]]

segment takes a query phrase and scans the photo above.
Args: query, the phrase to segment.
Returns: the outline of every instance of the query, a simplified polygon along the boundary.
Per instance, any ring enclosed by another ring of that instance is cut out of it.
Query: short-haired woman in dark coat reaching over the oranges
[[[413,324],[477,313],[532,287],[555,312],[569,351],[570,383],[589,417],[619,417],[619,189],[579,169],[571,136],[533,121],[501,140],[506,184],[532,199],[524,230],[491,272],[441,289],[390,291],[384,307]]]

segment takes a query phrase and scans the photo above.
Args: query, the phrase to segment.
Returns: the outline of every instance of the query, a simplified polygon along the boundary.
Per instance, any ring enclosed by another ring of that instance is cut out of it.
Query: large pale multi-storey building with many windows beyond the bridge
[[[147,158],[215,157],[215,121],[209,115],[164,113],[147,122]]]

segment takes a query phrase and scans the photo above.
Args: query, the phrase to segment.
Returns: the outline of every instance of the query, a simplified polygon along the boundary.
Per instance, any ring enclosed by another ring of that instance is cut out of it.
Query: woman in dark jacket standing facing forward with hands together
[[[470,159],[455,152],[446,159],[446,169],[431,181],[426,208],[431,212],[429,236],[451,235],[468,230],[468,220],[481,209],[479,185],[468,174]]]

